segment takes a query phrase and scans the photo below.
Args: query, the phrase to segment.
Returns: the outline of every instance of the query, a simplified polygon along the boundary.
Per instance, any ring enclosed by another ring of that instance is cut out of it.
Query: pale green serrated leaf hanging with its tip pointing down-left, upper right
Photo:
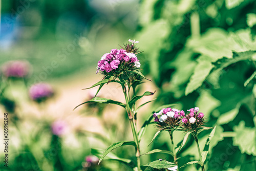
[[[198,58],[196,69],[193,75],[190,77],[185,89],[185,95],[188,95],[199,88],[204,82],[205,78],[209,75],[212,68],[214,68],[214,65],[211,64],[211,60],[206,56],[200,56]]]

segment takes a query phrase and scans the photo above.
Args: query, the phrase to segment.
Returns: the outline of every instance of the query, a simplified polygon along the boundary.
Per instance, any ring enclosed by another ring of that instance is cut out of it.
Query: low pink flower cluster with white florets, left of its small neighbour
[[[172,108],[163,108],[158,113],[154,113],[153,117],[155,122],[164,122],[168,117],[180,119],[181,116],[185,116],[184,111],[179,111],[178,109]]]

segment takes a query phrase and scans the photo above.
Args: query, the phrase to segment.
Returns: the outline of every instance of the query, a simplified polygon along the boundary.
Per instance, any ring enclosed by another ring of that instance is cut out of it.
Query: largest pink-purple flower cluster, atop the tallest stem
[[[98,71],[111,72],[118,69],[118,66],[122,63],[134,63],[134,66],[139,68],[140,62],[134,53],[127,53],[123,49],[112,49],[110,53],[106,53],[98,61]]]

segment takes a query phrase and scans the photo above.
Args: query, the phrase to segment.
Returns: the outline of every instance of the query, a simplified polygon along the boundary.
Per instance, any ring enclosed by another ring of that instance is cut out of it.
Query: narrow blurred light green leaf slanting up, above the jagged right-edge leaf
[[[238,104],[236,108],[232,109],[231,111],[221,114],[217,120],[217,123],[223,125],[234,120],[234,118],[236,118],[236,116],[238,115],[240,105],[241,104]]]

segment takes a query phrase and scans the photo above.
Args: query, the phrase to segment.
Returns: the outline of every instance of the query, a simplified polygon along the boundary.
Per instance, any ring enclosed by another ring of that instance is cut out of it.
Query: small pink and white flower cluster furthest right
[[[183,116],[182,118],[182,122],[183,123],[191,123],[191,124],[194,124],[195,122],[198,122],[198,121],[201,121],[202,118],[204,117],[204,114],[203,113],[199,113],[199,108],[196,107],[196,108],[191,108],[189,110],[187,110],[189,112],[189,114],[187,114],[186,116]]]

